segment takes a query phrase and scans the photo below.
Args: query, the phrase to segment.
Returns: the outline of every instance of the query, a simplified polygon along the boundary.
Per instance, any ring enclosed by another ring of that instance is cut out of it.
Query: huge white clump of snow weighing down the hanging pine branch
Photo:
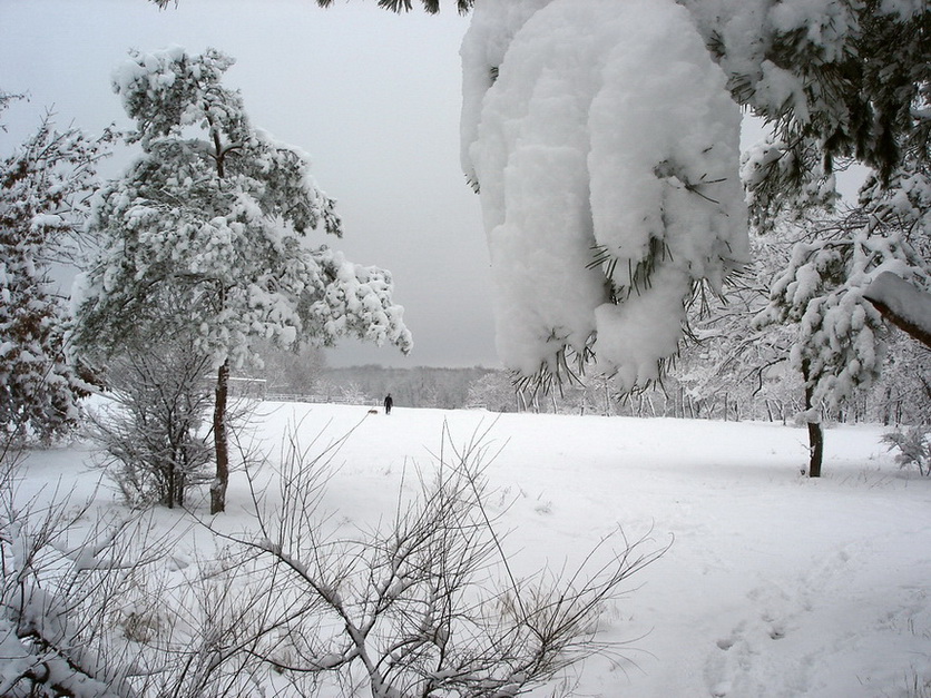
[[[595,352],[658,377],[696,283],[747,258],[739,111],[672,1],[489,0],[462,46],[498,350],[525,375]]]

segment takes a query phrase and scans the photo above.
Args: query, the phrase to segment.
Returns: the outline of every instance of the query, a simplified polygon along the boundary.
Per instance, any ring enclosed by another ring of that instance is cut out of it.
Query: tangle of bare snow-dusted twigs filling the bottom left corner
[[[242,583],[248,560],[173,580],[177,535],[154,539],[148,515],[95,520],[58,490],[19,503],[19,460],[0,471],[0,696],[268,695],[255,630],[273,590]]]

